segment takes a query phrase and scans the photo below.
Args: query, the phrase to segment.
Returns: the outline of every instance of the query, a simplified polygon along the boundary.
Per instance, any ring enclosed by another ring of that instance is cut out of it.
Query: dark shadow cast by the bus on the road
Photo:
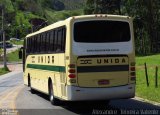
[[[49,101],[48,95],[36,92],[36,95]],[[134,99],[107,101],[61,102],[65,110],[74,114],[160,114],[160,106]],[[145,113],[146,112],[146,113]]]

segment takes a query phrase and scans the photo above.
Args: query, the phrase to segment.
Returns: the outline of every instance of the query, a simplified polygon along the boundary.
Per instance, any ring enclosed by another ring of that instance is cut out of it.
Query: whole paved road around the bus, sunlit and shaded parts
[[[135,99],[113,100],[109,105],[105,102],[63,102],[53,106],[47,95],[31,94],[30,88],[23,85],[22,72],[0,76],[0,108],[7,108],[7,112],[15,115],[160,114],[159,106]]]

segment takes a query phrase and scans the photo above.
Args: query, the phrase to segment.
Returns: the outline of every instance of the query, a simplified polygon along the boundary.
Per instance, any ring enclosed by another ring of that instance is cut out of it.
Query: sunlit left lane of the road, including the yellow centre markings
[[[15,109],[15,100],[22,87],[22,72],[0,76],[0,108]]]

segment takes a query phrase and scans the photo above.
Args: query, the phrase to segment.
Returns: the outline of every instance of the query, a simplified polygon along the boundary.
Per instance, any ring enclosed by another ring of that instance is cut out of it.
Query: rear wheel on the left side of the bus
[[[49,99],[52,105],[59,105],[59,100],[54,97],[52,82],[49,84]]]

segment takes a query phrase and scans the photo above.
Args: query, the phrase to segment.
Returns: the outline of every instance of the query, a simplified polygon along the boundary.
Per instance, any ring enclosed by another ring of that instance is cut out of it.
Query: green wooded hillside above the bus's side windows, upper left
[[[51,24],[83,14],[85,0],[0,0],[0,4],[5,5],[6,38],[9,39],[23,38],[31,32],[32,19]]]

